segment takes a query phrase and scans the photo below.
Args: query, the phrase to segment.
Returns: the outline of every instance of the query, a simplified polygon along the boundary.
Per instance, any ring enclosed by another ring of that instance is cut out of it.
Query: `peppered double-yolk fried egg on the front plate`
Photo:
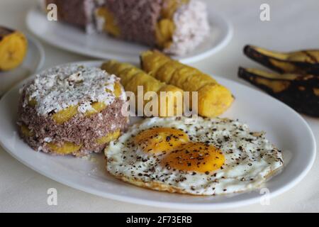
[[[228,118],[147,118],[105,150],[108,172],[159,191],[218,195],[257,189],[283,167],[263,132]]]

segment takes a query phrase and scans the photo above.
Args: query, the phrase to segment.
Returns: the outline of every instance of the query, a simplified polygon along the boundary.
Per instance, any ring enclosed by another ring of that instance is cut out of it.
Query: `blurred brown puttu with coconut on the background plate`
[[[116,38],[184,55],[210,31],[206,4],[198,0],[46,0],[58,20]]]

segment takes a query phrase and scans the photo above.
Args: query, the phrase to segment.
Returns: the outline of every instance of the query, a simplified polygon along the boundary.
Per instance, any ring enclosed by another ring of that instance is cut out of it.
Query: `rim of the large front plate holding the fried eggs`
[[[69,62],[69,63],[65,63],[65,64],[62,64],[62,65],[66,65],[66,64],[101,65],[102,62],[103,62],[103,60],[89,60],[89,61]],[[30,77],[24,79],[23,81],[19,82],[15,86],[13,86],[9,90],[9,92],[6,92],[6,94],[4,94],[3,98],[0,100],[0,103],[4,99],[6,99],[7,98],[6,96],[9,96],[9,94],[11,92],[13,92],[14,89],[17,89],[18,87],[21,87],[22,84],[24,84],[28,79],[31,79],[34,76],[35,76],[35,74],[31,75]],[[254,89],[252,87],[248,87],[247,85],[241,84],[239,82],[236,82],[233,79],[227,79],[227,78],[224,78],[224,77],[216,76],[216,74],[214,74],[213,76],[216,77],[216,79],[218,79],[218,80],[221,79],[221,80],[224,80],[224,81],[235,83],[235,84],[237,84],[239,86],[242,86],[242,87],[245,87],[247,89],[252,89],[252,90],[254,90],[254,92],[259,92],[259,93],[262,93],[263,95],[267,95],[267,94],[264,94],[264,92],[262,92],[262,91]],[[295,177],[288,184],[285,184],[284,186],[281,186],[279,189],[276,189],[275,192],[270,192],[269,198],[272,199],[272,198],[274,198],[274,196],[278,196],[279,194],[282,194],[282,193],[288,191],[289,189],[291,189],[292,187],[296,186],[296,184],[301,182],[301,180],[304,177],[306,177],[306,175],[310,171],[311,167],[313,167],[313,163],[315,162],[316,142],[315,142],[315,136],[313,135],[313,131],[311,130],[311,128],[308,125],[308,123],[306,122],[306,120],[300,114],[298,114],[296,111],[291,109],[290,106],[287,106],[283,102],[281,102],[281,101],[279,101],[277,99],[274,99],[272,96],[269,96],[269,98],[273,99],[273,101],[278,102],[282,106],[286,106],[286,108],[290,109],[290,111],[292,111],[293,114],[300,121],[302,121],[303,125],[306,126],[306,129],[307,129],[308,133],[310,134],[310,139],[312,140],[311,147],[313,148],[311,156],[310,156],[310,162],[308,163],[306,168],[301,172],[301,174],[298,175],[298,177]],[[50,179],[53,179],[56,182],[60,182],[61,184],[65,184],[65,185],[67,185],[69,187],[72,187],[74,189],[79,189],[79,190],[81,190],[83,192],[87,192],[89,194],[95,194],[95,195],[101,196],[103,198],[108,198],[108,199],[113,199],[113,200],[117,200],[117,201],[128,202],[128,203],[132,203],[132,204],[140,204],[140,205],[145,205],[145,206],[155,206],[155,207],[162,207],[162,208],[169,207],[170,209],[183,209],[183,210],[190,210],[190,209],[200,209],[200,210],[229,209],[229,208],[235,208],[235,207],[239,207],[239,206],[246,206],[246,205],[250,205],[250,204],[255,204],[258,201],[260,201],[260,196],[258,196],[258,197],[253,197],[253,198],[250,198],[250,199],[245,199],[245,200],[240,200],[240,201],[218,202],[218,204],[214,204],[213,202],[212,203],[208,203],[208,204],[203,204],[203,203],[198,203],[198,202],[183,204],[181,202],[170,203],[170,202],[167,202],[167,201],[152,201],[152,200],[147,200],[147,199],[142,199],[142,198],[134,198],[134,197],[131,197],[131,196],[126,196],[126,195],[112,194],[111,192],[101,192],[101,191],[96,190],[96,189],[84,187],[84,186],[82,186],[80,184],[74,184],[72,182],[68,182],[63,177],[58,177],[57,175],[52,175],[52,173],[50,171],[43,171],[43,170],[40,170],[38,167],[35,167],[33,165],[28,164],[22,158],[18,157],[18,155],[16,155],[15,153],[11,152],[11,150],[9,148],[7,148],[6,145],[3,143],[1,138],[0,138],[0,145],[12,157],[14,157],[16,160],[21,162],[23,165],[26,165],[30,169],[34,170],[35,172],[38,172],[40,175],[43,175],[43,176],[48,177]]]

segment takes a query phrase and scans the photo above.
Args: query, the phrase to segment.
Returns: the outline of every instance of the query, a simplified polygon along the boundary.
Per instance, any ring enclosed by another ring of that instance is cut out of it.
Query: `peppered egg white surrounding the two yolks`
[[[264,137],[264,133],[251,132],[245,123],[201,117],[194,124],[185,122],[189,121],[184,117],[155,117],[130,126],[105,150],[108,172],[131,184],[152,189],[218,195],[256,189],[284,165],[280,150]],[[208,175],[167,170],[160,165],[160,156],[145,153],[134,143],[135,135],[155,126],[181,129],[194,142],[220,148],[225,164]]]

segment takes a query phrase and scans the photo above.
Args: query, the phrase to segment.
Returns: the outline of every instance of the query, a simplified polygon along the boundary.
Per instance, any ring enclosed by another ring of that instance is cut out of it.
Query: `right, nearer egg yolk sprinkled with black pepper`
[[[186,143],[165,155],[162,165],[176,170],[209,174],[220,169],[225,157],[218,148],[205,143]]]

